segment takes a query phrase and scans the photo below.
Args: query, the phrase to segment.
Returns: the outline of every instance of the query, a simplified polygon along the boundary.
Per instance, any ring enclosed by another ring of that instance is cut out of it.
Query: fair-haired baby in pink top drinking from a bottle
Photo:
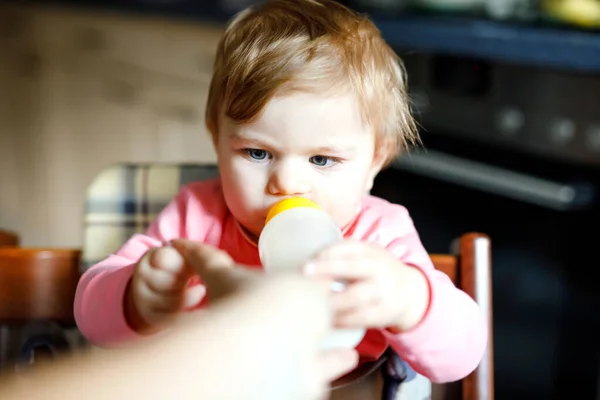
[[[97,345],[160,332],[206,292],[165,244],[191,239],[259,269],[269,207],[301,196],[344,232],[304,273],[349,282],[332,307],[337,326],[368,328],[361,360],[391,346],[431,381],[468,375],[487,342],[477,304],[434,269],[405,208],[366,194],[418,140],[405,80],[374,24],[335,1],[272,0],[236,16],[206,107],[220,177],[184,186],[144,234],[84,274],[81,332]]]

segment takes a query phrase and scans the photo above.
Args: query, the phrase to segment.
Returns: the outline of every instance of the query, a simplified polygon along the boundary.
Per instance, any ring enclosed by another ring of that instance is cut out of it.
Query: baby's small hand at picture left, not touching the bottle
[[[139,333],[154,333],[181,311],[197,305],[203,285],[189,286],[194,271],[173,247],[150,249],[136,264],[125,296],[125,316]]]

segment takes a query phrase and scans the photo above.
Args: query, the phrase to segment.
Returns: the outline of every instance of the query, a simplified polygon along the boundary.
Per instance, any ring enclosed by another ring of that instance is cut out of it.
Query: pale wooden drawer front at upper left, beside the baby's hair
[[[36,14],[35,25],[45,48],[200,81],[210,79],[223,31],[183,21],[52,9]]]

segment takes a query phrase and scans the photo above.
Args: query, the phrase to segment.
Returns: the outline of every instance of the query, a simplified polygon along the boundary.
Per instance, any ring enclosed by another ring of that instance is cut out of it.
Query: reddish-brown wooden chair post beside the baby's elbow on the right
[[[490,239],[480,233],[468,233],[454,243],[456,255],[434,254],[435,267],[446,273],[454,284],[471,296],[481,307],[489,327],[488,347],[481,363],[463,379],[463,400],[494,398],[494,352],[492,334],[492,278]]]

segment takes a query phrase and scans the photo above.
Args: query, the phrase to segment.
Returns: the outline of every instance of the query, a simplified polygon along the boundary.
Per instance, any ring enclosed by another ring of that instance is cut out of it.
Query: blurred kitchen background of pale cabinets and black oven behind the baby
[[[100,171],[214,162],[215,47],[252,3],[0,2],[0,228],[78,248]],[[403,57],[423,128],[374,194],[430,252],[492,239],[496,398],[600,398],[600,1],[343,3]]]

